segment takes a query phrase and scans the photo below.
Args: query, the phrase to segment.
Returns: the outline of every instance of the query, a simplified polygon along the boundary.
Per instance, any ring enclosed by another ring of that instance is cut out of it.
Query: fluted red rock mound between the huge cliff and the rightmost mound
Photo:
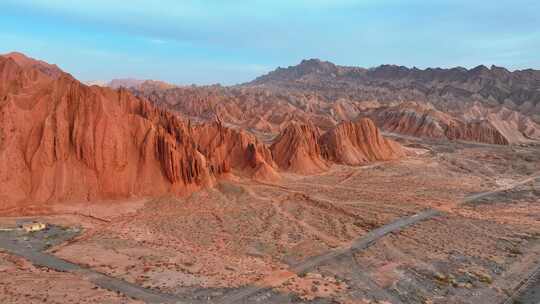
[[[280,168],[300,174],[319,173],[328,169],[321,156],[319,130],[313,125],[290,123],[270,149]]]

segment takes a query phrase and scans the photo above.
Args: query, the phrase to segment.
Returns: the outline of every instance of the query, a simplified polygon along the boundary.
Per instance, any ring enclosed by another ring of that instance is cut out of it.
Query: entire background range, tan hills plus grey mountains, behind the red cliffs
[[[502,67],[365,69],[319,59],[278,68],[232,87],[154,80],[109,84],[194,121],[224,123],[271,138],[290,121],[329,130],[369,117],[383,130],[495,144],[540,139],[540,71]]]

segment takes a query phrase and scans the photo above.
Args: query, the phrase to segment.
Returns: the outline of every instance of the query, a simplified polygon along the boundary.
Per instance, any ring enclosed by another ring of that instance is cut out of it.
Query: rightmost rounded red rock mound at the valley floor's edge
[[[400,145],[384,138],[368,118],[341,123],[326,132],[320,142],[322,155],[340,164],[360,165],[403,156]]]

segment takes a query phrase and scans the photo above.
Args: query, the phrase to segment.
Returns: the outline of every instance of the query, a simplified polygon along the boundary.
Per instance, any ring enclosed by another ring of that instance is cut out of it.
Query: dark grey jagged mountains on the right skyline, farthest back
[[[310,59],[278,68],[243,86],[313,91],[334,100],[422,101],[445,112],[463,103],[481,102],[504,105],[540,122],[540,71],[533,69],[511,72],[483,65],[473,69],[422,70],[396,65],[364,69]]]

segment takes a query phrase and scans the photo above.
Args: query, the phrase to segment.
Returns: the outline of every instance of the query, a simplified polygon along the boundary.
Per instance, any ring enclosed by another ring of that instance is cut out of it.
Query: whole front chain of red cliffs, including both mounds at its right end
[[[271,147],[221,119],[192,124],[126,89],[86,86],[21,54],[0,56],[0,207],[187,194],[230,173],[268,181],[280,178],[278,166],[311,174],[332,162],[400,156],[369,120],[321,135],[286,109],[274,117],[273,105],[259,107],[264,121],[288,123]]]

